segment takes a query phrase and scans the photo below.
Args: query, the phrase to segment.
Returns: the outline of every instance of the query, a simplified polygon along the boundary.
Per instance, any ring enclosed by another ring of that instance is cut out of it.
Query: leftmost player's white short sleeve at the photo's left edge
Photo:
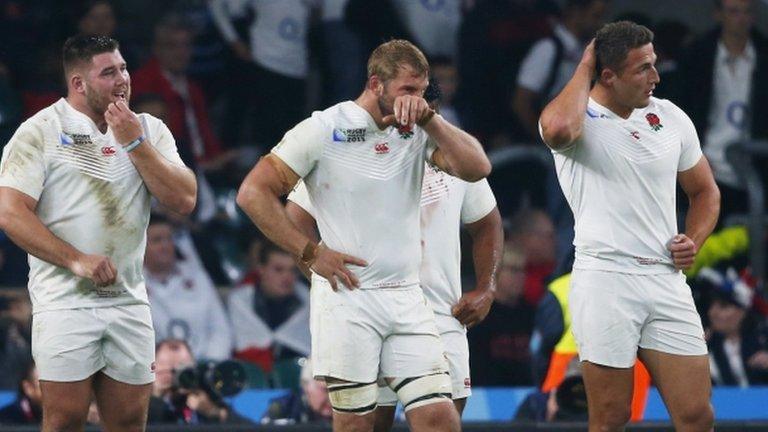
[[[45,145],[42,132],[30,121],[19,126],[3,149],[0,186],[40,199],[45,183]]]

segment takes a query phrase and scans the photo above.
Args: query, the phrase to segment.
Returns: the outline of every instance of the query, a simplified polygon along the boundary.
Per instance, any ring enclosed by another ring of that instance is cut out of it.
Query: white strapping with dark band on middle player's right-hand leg
[[[425,405],[451,401],[451,378],[447,372],[396,378],[392,380],[390,386],[397,393],[397,398],[403,404],[406,413]]]

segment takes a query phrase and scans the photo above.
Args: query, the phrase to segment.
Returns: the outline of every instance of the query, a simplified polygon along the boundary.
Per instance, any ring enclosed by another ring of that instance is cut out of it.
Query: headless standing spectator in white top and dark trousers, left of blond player
[[[306,110],[307,34],[319,1],[211,0],[209,4],[219,31],[235,54],[247,62],[250,76],[230,98],[227,128],[234,132],[250,123],[256,144],[271,148],[284,131],[301,121]],[[238,5],[245,5],[255,15],[249,43],[240,40],[232,23],[232,10]],[[248,123],[243,118],[246,107],[253,111]]]

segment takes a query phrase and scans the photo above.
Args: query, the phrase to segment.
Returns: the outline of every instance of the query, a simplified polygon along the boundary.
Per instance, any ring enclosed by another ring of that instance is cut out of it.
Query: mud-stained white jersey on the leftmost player
[[[183,165],[168,128],[139,114],[145,137]],[[142,145],[146,145],[142,144]],[[22,123],[3,150],[0,186],[37,200],[35,213],[60,239],[112,259],[117,282],[96,287],[69,270],[29,256],[34,312],[147,304],[142,261],[150,194],[128,154],[112,136],[65,99]]]

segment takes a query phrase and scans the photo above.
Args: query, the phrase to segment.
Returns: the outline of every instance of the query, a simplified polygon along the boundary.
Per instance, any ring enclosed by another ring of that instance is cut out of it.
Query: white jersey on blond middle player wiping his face
[[[419,282],[419,198],[434,148],[423,129],[379,130],[347,101],[313,113],[272,152],[303,177],[323,243],[368,262],[349,269],[370,289]]]

